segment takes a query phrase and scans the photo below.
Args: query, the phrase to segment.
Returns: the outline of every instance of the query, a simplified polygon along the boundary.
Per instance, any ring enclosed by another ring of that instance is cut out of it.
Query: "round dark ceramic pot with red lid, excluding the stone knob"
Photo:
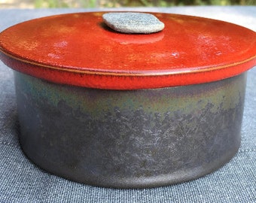
[[[24,153],[50,173],[95,186],[193,180],[239,149],[255,32],[154,14],[154,34],[109,29],[102,12],[62,14],[0,33],[14,69]]]

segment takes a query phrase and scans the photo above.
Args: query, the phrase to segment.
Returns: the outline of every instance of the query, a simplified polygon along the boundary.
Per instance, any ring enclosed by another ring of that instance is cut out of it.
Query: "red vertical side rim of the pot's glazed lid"
[[[44,67],[32,65],[29,63],[21,62],[19,60],[8,58],[0,52],[0,58],[2,61],[14,69],[14,71],[20,71],[23,74],[31,75],[32,77],[37,77],[38,79],[47,80],[52,83],[81,86],[84,88],[93,89],[109,89],[109,90],[136,90],[136,89],[157,89],[175,86],[187,86],[187,85],[197,85],[200,83],[211,83],[218,82],[218,80],[224,80],[230,77],[235,77],[236,75],[243,74],[248,71],[255,63],[256,58],[251,61],[245,62],[243,64],[236,65],[236,70],[233,74],[225,71],[225,69],[213,70],[209,72],[209,77],[206,76],[206,72],[197,72],[194,74],[180,74],[179,77],[175,77],[173,74],[169,75],[148,75],[148,76],[113,76],[113,75],[99,75],[99,74],[80,74],[78,72],[62,71],[59,69],[51,69],[44,74]],[[241,71],[241,69],[243,71]],[[55,77],[62,71],[62,77]],[[221,77],[219,76],[221,74]],[[152,80],[152,78],[154,80]],[[136,83],[134,81],[136,80]],[[153,81],[153,82],[152,82]],[[172,81],[170,83],[169,81]]]

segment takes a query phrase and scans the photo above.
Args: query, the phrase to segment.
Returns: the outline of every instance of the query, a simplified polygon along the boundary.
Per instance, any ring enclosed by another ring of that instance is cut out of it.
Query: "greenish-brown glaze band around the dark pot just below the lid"
[[[143,109],[146,114],[157,112],[163,119],[167,112],[190,114],[209,104],[213,105],[211,111],[215,113],[235,108],[245,89],[242,75],[214,83],[130,91],[87,89],[48,83],[17,72],[16,75],[24,93],[31,96],[33,101],[38,101],[38,105],[47,102],[52,108],[57,108],[59,102],[65,102],[73,111],[81,111],[100,120],[105,114],[139,109]]]

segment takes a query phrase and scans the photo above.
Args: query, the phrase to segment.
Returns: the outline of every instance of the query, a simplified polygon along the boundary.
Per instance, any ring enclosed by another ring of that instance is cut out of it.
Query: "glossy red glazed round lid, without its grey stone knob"
[[[148,89],[212,82],[256,64],[255,32],[201,17],[154,14],[153,34],[108,29],[103,12],[30,20],[0,33],[0,55],[14,70],[99,89]]]

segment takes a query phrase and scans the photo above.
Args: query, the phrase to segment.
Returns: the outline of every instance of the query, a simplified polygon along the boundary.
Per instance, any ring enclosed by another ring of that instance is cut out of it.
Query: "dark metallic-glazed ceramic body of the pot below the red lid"
[[[239,148],[246,74],[101,90],[15,72],[20,143],[41,168],[96,186],[163,186],[209,174]]]

